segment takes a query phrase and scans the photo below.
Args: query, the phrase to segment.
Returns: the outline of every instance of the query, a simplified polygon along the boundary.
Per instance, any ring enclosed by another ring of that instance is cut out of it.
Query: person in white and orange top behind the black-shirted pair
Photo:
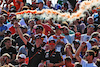
[[[63,52],[64,51],[63,48],[64,48],[65,44],[68,43],[68,40],[64,36],[61,35],[62,29],[61,29],[60,25],[55,26],[55,30],[56,30],[56,34],[53,36],[50,36],[49,40],[54,39],[57,44],[56,50],[59,52],[61,52],[61,51]]]

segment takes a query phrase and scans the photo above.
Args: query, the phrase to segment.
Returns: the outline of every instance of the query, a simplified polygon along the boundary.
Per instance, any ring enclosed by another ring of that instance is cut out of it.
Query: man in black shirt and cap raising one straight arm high
[[[38,35],[35,36],[35,45],[29,43],[25,37],[23,37],[23,33],[18,25],[18,22],[15,21],[15,27],[17,28],[18,34],[20,38],[23,40],[25,46],[28,48],[29,55],[29,63],[28,67],[38,67],[38,64],[44,60],[45,51],[41,49],[41,44],[43,43],[42,38]]]

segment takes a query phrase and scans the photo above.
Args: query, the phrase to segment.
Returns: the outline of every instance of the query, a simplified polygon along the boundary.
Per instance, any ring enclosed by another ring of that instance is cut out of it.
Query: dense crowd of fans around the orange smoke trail
[[[75,13],[84,0],[0,0],[0,67],[100,67],[100,9],[85,18],[44,22],[16,19],[23,10],[54,9]],[[20,22],[25,22],[21,25]]]

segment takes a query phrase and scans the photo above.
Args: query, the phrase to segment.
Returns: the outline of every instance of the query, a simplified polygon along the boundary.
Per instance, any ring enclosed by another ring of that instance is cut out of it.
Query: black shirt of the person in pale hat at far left
[[[15,47],[13,47],[13,46],[11,46],[9,49],[6,49],[6,47],[4,46],[1,49],[1,55],[3,55],[4,53],[8,53],[12,58],[12,55],[17,54],[17,51],[16,51]]]

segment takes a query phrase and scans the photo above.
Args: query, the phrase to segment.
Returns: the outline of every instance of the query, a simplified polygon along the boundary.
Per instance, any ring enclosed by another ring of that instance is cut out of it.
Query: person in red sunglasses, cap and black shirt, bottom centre
[[[56,46],[55,40],[49,40],[50,51],[49,51],[49,57],[47,58],[48,67],[52,67],[52,66],[59,67],[60,65],[63,65],[60,52],[57,52],[55,50],[55,46]]]

